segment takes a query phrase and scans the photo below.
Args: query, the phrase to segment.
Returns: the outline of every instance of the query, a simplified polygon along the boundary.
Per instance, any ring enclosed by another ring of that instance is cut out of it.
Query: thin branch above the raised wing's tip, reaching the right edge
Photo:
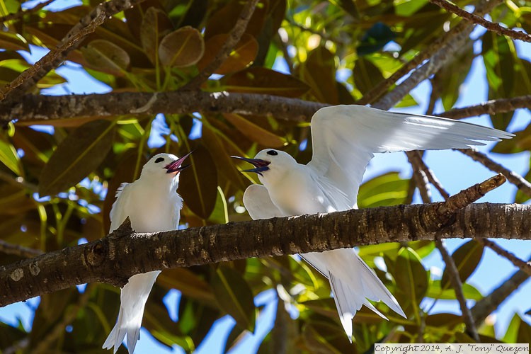
[[[480,103],[479,105],[470,105],[469,107],[464,108],[454,108],[436,115],[445,118],[459,119],[474,117],[476,115],[482,114],[493,115],[497,113],[513,112],[513,110],[517,110],[518,108],[531,108],[531,95],[513,98],[500,98],[498,100],[486,101],[484,103]]]

